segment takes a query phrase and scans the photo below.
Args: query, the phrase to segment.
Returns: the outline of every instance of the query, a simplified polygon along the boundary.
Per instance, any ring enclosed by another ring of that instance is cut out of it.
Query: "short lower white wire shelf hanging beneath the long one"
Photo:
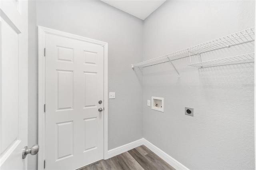
[[[214,60],[203,61],[203,62],[198,62],[198,63],[191,63],[188,65],[193,66],[193,67],[204,67],[204,66],[209,66],[209,65],[217,65],[217,64],[223,64],[223,63],[245,61],[245,60],[250,60],[250,59],[254,59],[254,53],[236,55],[236,56],[232,56],[232,57],[214,59]]]

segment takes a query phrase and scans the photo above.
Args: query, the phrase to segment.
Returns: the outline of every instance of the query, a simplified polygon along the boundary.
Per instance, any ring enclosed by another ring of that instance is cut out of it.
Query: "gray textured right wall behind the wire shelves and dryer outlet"
[[[166,1],[144,21],[143,60],[254,27],[254,1]],[[246,43],[202,60],[254,51]],[[198,57],[192,57],[198,61]],[[254,169],[254,63],[143,70],[143,136],[190,169]],[[164,113],[147,106],[164,97]],[[184,114],[194,108],[194,117]]]

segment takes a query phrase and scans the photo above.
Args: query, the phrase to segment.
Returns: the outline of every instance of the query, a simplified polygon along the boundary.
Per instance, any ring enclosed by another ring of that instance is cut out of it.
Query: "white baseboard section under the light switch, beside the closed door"
[[[144,141],[144,138],[141,138],[141,139],[136,140],[134,142],[130,142],[130,143],[125,144],[123,146],[119,146],[117,148],[108,150],[108,156],[107,156],[107,158],[104,158],[104,159],[112,158],[113,156],[122,154],[124,152],[127,152],[128,150],[131,150],[131,149],[134,149],[138,146],[141,146],[142,144],[144,144],[143,141]]]

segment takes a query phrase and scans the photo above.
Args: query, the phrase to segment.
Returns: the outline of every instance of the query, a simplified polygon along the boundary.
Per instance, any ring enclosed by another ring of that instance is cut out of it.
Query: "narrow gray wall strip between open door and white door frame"
[[[38,59],[36,1],[28,1],[28,147],[38,144]],[[37,155],[28,155],[28,169],[37,168]]]

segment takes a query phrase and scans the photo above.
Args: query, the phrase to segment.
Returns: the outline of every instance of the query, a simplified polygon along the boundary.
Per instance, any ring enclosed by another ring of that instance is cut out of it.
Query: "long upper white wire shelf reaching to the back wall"
[[[158,63],[164,63],[169,60],[176,60],[184,57],[189,57],[191,55],[196,55],[198,53],[205,53],[208,51],[212,51],[215,49],[221,49],[225,47],[230,47],[233,45],[238,45],[241,43],[252,42],[254,41],[254,32],[255,28],[249,28],[234,34],[230,34],[228,36],[224,36],[222,38],[218,38],[216,40],[212,40],[206,43],[201,43],[199,45],[195,45],[193,47],[189,47],[186,49],[182,49],[180,51],[176,51],[174,53],[170,53],[167,55],[163,55],[160,57],[156,57],[154,59],[150,59],[147,61],[143,61],[137,64],[133,64],[134,67],[148,67],[150,65],[156,65]]]

